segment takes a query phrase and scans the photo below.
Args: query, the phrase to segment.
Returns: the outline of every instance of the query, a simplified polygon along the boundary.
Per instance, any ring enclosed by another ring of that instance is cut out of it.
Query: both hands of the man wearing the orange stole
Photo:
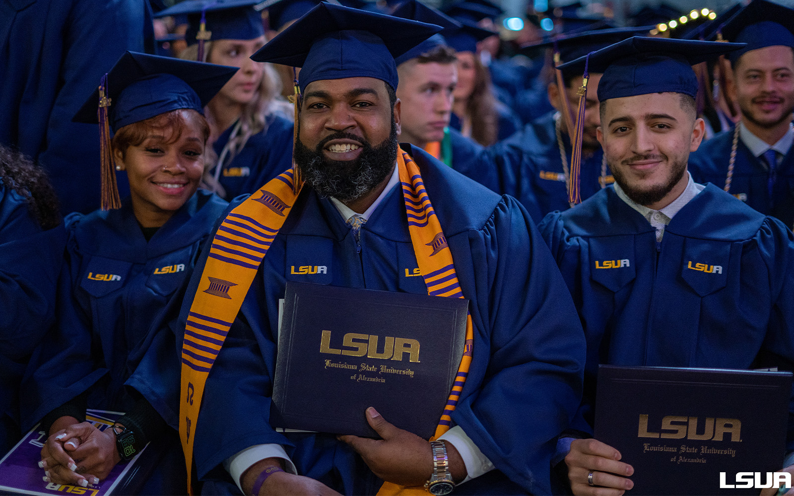
[[[364,463],[367,463],[369,469],[380,479],[399,486],[424,485],[433,473],[433,453],[430,450],[430,443],[413,433],[391,425],[372,407],[367,409],[366,417],[369,425],[382,439],[359,436],[337,436],[337,439],[356,450],[364,459]],[[447,443],[446,446],[453,479],[456,481],[465,479],[466,467],[460,453],[451,443]],[[258,474],[268,465],[276,463],[278,463],[276,459],[262,460],[251,469]],[[254,479],[252,475],[249,479]],[[261,487],[260,494],[337,494],[337,492],[312,479],[279,472],[268,477]]]

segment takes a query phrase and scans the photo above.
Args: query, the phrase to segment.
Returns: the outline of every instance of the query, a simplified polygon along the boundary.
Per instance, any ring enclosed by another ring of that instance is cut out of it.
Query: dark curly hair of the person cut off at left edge
[[[60,224],[60,204],[44,167],[21,152],[0,144],[0,183],[28,201],[28,209],[41,229]]]

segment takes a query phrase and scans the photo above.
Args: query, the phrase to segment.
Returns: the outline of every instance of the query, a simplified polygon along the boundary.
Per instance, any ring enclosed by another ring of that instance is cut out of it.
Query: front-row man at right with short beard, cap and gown
[[[592,433],[599,363],[790,370],[794,362],[794,236],[687,171],[704,130],[690,66],[741,46],[634,37],[589,56],[590,70],[603,71],[598,134],[615,185],[540,225],[588,341],[574,429]],[[587,60],[563,67],[586,71]],[[567,438],[561,452],[574,494],[633,486],[633,468],[607,444]]]

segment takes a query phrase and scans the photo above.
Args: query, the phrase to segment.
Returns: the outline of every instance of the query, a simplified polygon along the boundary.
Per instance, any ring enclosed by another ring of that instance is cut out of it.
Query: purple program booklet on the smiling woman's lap
[[[116,419],[123,413],[108,412],[106,410],[88,409],[86,411],[86,421],[94,424],[97,429],[103,431],[114,425]],[[38,429],[38,425],[33,428],[24,438],[22,438],[6,456],[0,460],[0,493],[13,494],[40,494],[41,496],[51,496],[52,494],[85,494],[86,496],[102,496],[103,494],[130,494],[134,492],[133,487],[139,481],[133,481],[133,475],[137,470],[136,463],[145,448],[141,450],[129,462],[120,462],[110,474],[96,486],[69,486],[67,484],[45,483],[44,469],[39,468],[41,459],[41,448],[47,440],[44,431]],[[136,478],[139,479],[140,478]],[[115,493],[114,493],[115,491]]]

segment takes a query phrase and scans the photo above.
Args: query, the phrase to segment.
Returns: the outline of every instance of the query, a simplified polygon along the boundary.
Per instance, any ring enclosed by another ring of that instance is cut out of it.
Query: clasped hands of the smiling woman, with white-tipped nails
[[[45,482],[83,487],[98,484],[121,461],[113,429],[100,431],[89,422],[72,424],[61,417],[50,433],[39,462]]]

